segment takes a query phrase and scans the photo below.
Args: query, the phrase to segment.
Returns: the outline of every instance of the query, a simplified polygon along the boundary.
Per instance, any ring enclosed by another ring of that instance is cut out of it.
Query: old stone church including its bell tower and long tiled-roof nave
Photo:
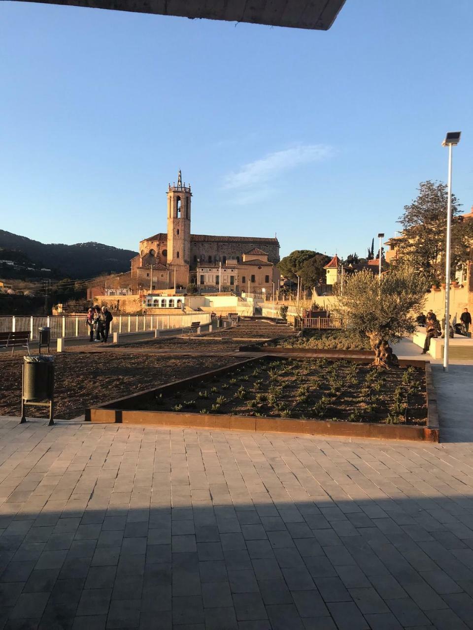
[[[133,278],[145,282],[151,272],[151,284],[156,289],[185,287],[196,282],[197,267],[204,263],[207,266],[225,265],[227,260],[239,263],[245,253],[255,248],[267,253],[267,261],[274,265],[279,262],[277,238],[191,234],[192,192],[190,185],[182,182],[181,171],[177,185],[168,185],[166,197],[167,232],[139,242],[139,253],[131,260]]]

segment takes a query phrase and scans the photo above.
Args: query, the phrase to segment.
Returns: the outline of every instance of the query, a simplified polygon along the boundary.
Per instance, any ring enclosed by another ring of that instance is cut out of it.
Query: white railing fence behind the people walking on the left
[[[37,340],[38,329],[49,326],[51,338],[83,337],[89,334],[85,315],[58,315],[49,317],[0,317],[0,333],[30,331],[31,339]],[[149,330],[188,328],[192,322],[209,324],[210,313],[196,312],[191,315],[114,315],[111,333],[141,333]]]

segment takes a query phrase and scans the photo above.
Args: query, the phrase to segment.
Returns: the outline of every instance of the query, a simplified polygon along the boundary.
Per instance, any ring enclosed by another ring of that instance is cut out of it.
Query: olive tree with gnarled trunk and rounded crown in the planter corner
[[[409,268],[395,268],[379,280],[370,270],[346,277],[335,287],[334,310],[356,333],[366,335],[375,352],[373,365],[397,365],[390,343],[413,333],[426,294],[426,280]]]

